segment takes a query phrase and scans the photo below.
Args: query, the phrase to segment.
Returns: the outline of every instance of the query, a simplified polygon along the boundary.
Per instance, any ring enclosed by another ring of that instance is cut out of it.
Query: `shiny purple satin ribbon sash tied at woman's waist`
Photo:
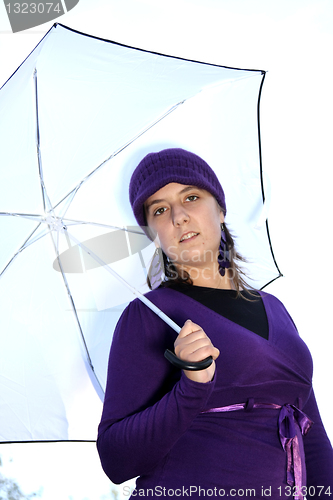
[[[300,428],[301,434],[305,436],[311,429],[313,422],[304,412],[302,412],[302,410],[295,405],[289,404],[281,406],[274,403],[254,403],[254,400],[251,398],[247,403],[210,408],[201,413],[224,413],[237,410],[247,411],[252,410],[252,408],[280,409],[278,428],[282,448],[287,453],[287,483],[289,486],[293,487],[295,500],[303,500],[302,457],[300,454],[296,425]]]

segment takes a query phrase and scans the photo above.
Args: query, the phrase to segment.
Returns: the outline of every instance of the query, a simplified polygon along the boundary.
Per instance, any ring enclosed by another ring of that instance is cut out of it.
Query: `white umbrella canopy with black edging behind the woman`
[[[103,264],[148,291],[154,244],[128,202],[146,153],[202,156],[250,284],[280,275],[260,158],[264,76],[55,24],[2,87],[1,441],[95,439],[112,332],[133,298]]]

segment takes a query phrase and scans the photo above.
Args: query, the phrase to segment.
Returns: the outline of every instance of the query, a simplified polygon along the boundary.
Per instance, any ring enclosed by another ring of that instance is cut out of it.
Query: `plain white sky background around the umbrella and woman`
[[[262,158],[271,186],[270,234],[284,277],[267,291],[284,302],[312,352],[317,401],[333,441],[333,3],[80,0],[55,21],[142,49],[268,72]],[[0,5],[0,86],[55,21],[13,34]],[[45,500],[111,498],[93,443],[0,445],[0,456],[3,472],[26,492],[42,488]]]

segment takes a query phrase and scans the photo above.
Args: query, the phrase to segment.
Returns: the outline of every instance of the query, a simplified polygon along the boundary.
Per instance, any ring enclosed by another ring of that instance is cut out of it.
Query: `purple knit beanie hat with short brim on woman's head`
[[[222,186],[210,166],[200,156],[180,148],[149,153],[133,172],[129,198],[139,226],[145,226],[145,201],[170,182],[197,186],[211,193],[226,213]]]

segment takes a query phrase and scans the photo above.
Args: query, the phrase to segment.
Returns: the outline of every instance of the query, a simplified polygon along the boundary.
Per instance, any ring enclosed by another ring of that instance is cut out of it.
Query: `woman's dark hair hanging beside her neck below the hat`
[[[237,291],[237,297],[241,296],[243,298],[246,298],[243,295],[241,295],[240,293],[241,290],[245,289],[248,290],[249,292],[250,289],[253,290],[253,287],[246,282],[247,276],[245,272],[242,270],[240,265],[241,262],[246,262],[246,259],[236,251],[234,239],[225,223],[224,223],[224,230],[225,230],[226,243],[229,250],[229,260],[230,260],[230,267],[227,270],[227,273],[229,275],[230,274],[232,275],[232,281]],[[184,270],[182,270],[182,272],[180,273],[177,270],[175,264],[168,259],[168,257],[166,256],[166,254],[163,252],[162,249],[160,250],[160,255],[162,255],[163,258],[163,270],[164,270],[164,279],[160,284],[161,287],[166,288],[179,284],[193,285],[193,281],[191,279],[190,274]],[[153,287],[151,284],[150,276],[151,272],[149,270],[147,276],[147,284],[149,288],[152,290]]]

